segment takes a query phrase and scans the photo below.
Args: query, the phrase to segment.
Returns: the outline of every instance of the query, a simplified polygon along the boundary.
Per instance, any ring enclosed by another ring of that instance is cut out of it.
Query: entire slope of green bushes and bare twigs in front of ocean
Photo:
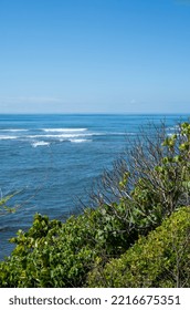
[[[36,214],[11,239],[0,287],[190,287],[190,124],[145,132],[86,207],[65,223]]]

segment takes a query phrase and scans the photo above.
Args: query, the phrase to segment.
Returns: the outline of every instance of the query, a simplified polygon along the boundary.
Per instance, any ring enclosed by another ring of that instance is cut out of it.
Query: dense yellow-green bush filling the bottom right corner
[[[89,287],[190,287],[190,207],[166,219],[118,259],[88,275]]]

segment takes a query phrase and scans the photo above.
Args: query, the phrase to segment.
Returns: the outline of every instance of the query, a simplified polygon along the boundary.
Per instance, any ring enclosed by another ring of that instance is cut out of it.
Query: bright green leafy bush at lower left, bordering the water
[[[126,249],[123,223],[107,209],[86,209],[65,224],[35,215],[28,232],[12,238],[15,249],[0,264],[1,287],[81,287],[95,258],[106,262]]]

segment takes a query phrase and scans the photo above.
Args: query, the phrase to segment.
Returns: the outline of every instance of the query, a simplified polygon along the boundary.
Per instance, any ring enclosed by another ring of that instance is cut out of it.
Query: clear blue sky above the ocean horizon
[[[190,113],[190,1],[0,0],[2,113]]]

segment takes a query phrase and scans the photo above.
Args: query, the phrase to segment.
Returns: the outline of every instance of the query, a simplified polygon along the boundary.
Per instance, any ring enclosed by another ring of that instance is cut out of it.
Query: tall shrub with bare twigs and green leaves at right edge
[[[115,199],[125,213],[117,215],[114,207],[113,214],[140,235],[155,229],[180,206],[190,205],[190,124],[180,124],[171,136],[165,130],[137,138],[127,158],[104,175],[104,193],[95,196],[99,205],[107,202],[110,208],[109,197]]]

